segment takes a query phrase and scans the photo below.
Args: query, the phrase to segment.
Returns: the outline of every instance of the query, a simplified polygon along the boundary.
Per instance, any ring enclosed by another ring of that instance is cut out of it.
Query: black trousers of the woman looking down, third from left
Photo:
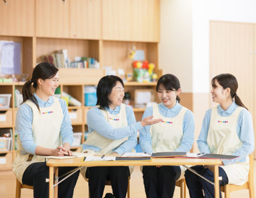
[[[175,181],[181,175],[179,166],[143,166],[142,172],[147,197],[173,197]]]

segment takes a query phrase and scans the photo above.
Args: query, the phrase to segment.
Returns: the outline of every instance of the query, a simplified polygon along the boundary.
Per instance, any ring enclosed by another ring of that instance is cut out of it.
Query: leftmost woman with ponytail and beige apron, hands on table
[[[22,90],[23,104],[16,117],[15,132],[19,135],[19,151],[13,171],[19,182],[33,185],[34,197],[49,197],[49,167],[41,155],[72,155],[73,129],[64,100],[53,97],[59,86],[58,69],[41,62],[33,70],[31,80]],[[32,94],[31,86],[35,88]],[[59,175],[73,167],[60,167]],[[59,184],[59,197],[73,197],[79,173]]]

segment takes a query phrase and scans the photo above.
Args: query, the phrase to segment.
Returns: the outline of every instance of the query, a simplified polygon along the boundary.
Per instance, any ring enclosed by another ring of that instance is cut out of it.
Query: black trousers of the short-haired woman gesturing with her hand
[[[113,194],[117,198],[125,198],[130,175],[127,166],[88,167],[85,177],[89,178],[89,193],[91,198],[101,198],[105,182],[111,181]]]

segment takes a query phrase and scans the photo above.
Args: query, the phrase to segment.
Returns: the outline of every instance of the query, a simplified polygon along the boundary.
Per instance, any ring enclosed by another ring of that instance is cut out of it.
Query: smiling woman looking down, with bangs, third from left
[[[146,153],[189,151],[193,145],[195,122],[193,113],[179,104],[179,79],[165,74],[157,82],[157,96],[161,101],[147,108],[143,118],[153,116],[162,122],[145,126],[139,133],[141,150]],[[173,197],[175,181],[184,178],[182,166],[143,166],[143,180],[147,197]]]

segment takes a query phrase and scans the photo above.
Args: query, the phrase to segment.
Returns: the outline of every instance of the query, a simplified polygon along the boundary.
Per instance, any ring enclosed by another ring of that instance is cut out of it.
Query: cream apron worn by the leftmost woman
[[[29,105],[33,112],[32,121],[32,135],[33,140],[37,146],[43,146],[45,148],[55,149],[61,145],[61,124],[63,122],[63,111],[61,104],[59,104],[59,98],[53,97],[54,103],[47,108],[37,109],[37,106],[27,100],[25,103]],[[18,137],[19,151],[17,151],[15,161],[13,162],[13,172],[15,173],[19,182],[22,183],[22,177],[25,169],[35,162],[43,162],[45,158],[39,155],[34,155],[31,161],[27,161],[29,153],[26,153],[21,146],[21,142]]]

